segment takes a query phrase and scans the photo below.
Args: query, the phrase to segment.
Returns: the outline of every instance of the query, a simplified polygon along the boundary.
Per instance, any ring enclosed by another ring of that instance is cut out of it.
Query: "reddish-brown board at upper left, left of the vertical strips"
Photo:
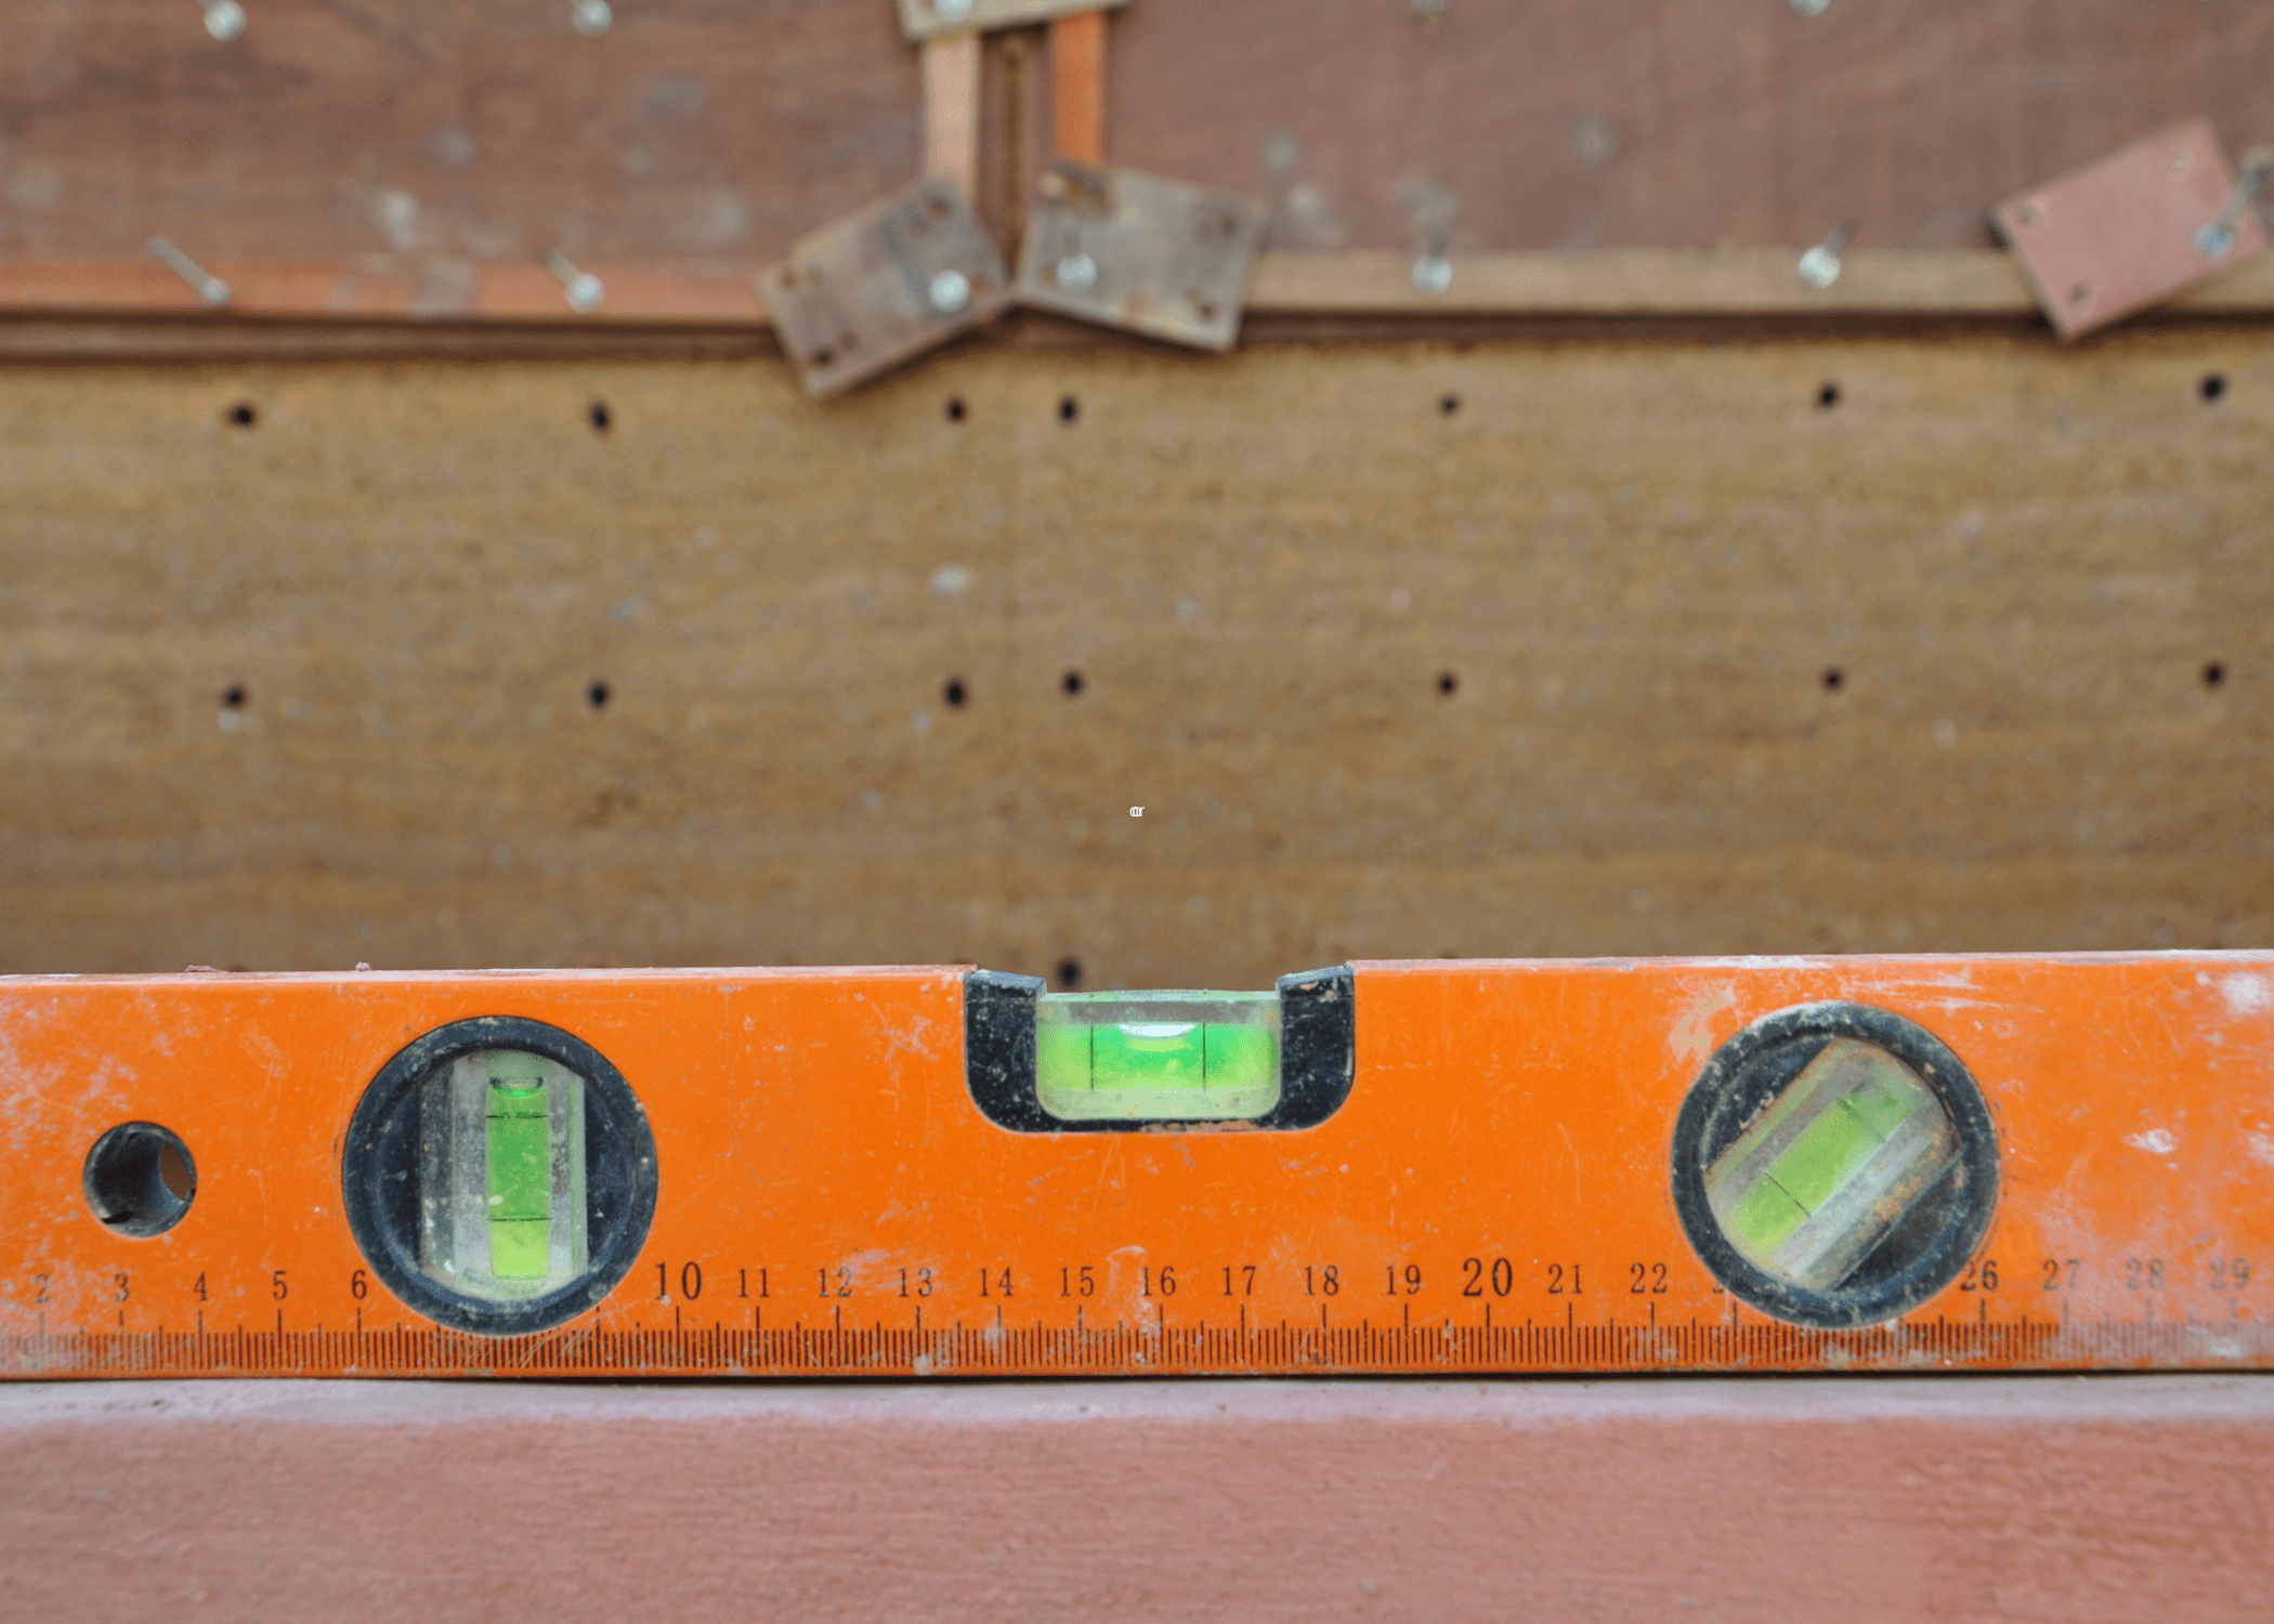
[[[769,259],[916,177],[887,0],[196,0],[0,18],[0,255]]]

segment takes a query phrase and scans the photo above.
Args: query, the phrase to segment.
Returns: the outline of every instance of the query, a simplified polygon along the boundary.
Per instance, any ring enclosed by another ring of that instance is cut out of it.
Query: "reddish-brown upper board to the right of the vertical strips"
[[[1264,193],[1273,248],[1987,246],[2181,118],[2274,130],[2274,16],[2126,0],[1139,0],[1107,150]]]

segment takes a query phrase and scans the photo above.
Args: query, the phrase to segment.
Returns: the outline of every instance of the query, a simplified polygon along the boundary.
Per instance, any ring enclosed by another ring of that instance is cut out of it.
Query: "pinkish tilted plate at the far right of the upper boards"
[[[2063,339],[2147,309],[2267,246],[2256,209],[2224,243],[2197,243],[2235,191],[2201,118],[2008,198],[1992,223]]]

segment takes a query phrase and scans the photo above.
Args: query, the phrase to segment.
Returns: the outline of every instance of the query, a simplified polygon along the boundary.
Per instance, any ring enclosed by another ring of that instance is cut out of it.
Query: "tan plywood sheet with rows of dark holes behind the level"
[[[20,366],[0,969],[2265,944],[2269,425],[2247,328]]]

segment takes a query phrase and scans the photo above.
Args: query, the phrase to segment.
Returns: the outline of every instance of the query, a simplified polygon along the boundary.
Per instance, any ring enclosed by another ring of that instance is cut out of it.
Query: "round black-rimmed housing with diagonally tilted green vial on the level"
[[[1910,1312],[1958,1278],[1997,1205],[1981,1087],[1917,1021],[1803,1003],[1706,1062],[1674,1119],[1674,1208],[1712,1276],[1799,1326]]]

